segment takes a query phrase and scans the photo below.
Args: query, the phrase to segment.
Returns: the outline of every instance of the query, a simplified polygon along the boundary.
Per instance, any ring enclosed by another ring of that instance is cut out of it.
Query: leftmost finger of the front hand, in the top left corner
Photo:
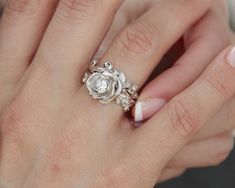
[[[31,62],[57,0],[9,0],[0,22],[0,82],[15,83]]]

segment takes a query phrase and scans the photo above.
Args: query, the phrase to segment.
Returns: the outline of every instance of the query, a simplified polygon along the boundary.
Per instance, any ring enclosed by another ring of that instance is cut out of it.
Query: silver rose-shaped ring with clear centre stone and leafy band
[[[115,101],[125,112],[136,103],[138,86],[126,79],[123,72],[115,70],[110,62],[103,67],[93,60],[88,72],[83,77],[90,95],[102,104]]]

